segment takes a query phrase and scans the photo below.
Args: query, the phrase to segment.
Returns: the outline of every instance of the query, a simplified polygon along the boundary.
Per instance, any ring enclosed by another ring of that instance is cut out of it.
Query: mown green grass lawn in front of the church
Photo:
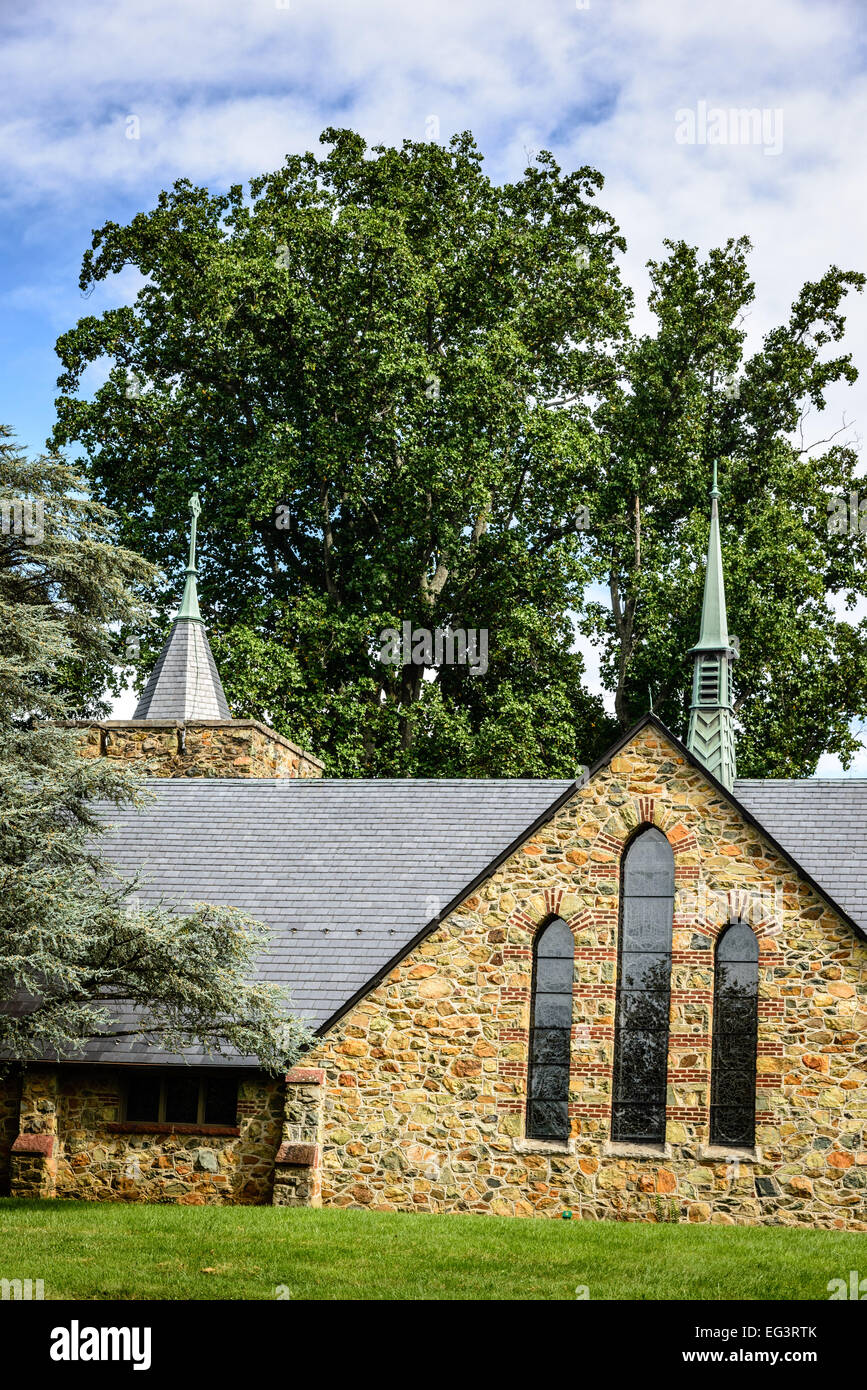
[[[782,1226],[0,1201],[46,1298],[827,1298],[867,1236]]]

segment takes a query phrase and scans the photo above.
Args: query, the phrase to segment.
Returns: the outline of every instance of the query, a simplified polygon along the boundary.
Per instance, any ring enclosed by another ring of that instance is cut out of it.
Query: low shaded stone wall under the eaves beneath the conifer
[[[13,1195],[99,1201],[270,1202],[283,1127],[281,1080],[240,1081],[236,1126],[124,1123],[124,1073],[108,1068],[28,1068]],[[39,1179],[36,1127],[54,1144]],[[39,1190],[36,1190],[39,1188]]]

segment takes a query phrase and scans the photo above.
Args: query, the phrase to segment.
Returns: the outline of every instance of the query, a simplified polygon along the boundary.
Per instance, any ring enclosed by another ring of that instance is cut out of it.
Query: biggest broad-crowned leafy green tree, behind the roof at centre
[[[270,714],[332,773],[574,771],[609,723],[568,617],[602,463],[585,398],[628,310],[599,175],[543,156],[496,188],[470,136],[374,158],[324,139],[250,199],[181,182],[96,234],[85,289],[126,264],[147,282],[60,341],[57,439],[172,580],[200,492],[238,716]],[[101,354],[106,385],[78,399]],[[160,598],[167,614],[174,587]],[[488,676],[383,666],[404,620],[486,627]]]

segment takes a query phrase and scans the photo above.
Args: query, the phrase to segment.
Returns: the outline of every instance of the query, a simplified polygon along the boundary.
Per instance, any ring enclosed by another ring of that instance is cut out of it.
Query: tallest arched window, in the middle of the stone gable
[[[650,827],[627,849],[621,885],[611,1138],[666,1138],[674,855]]]

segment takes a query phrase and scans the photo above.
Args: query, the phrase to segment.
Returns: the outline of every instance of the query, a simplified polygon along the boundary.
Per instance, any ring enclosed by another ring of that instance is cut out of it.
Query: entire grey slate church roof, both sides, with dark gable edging
[[[591,769],[647,724],[779,851],[859,935],[867,934],[867,783],[722,787],[647,714]],[[143,869],[143,902],[231,903],[268,923],[263,976],[324,1031],[574,794],[563,780],[331,781],[153,778],[143,810],[107,808],[106,852]],[[814,788],[814,791],[811,791]],[[854,790],[850,790],[854,788]],[[759,815],[757,812],[761,812]],[[845,845],[845,849],[841,849]],[[97,1038],[93,1062],[208,1062]],[[249,1065],[253,1059],[222,1059]]]

